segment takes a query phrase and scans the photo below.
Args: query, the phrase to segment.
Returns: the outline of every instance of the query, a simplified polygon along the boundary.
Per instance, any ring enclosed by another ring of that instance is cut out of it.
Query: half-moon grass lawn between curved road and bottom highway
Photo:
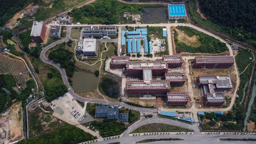
[[[134,131],[132,131],[131,133],[166,132],[166,131],[191,131],[191,130],[169,125],[169,124],[152,123],[152,124],[145,124],[143,126],[140,126]]]

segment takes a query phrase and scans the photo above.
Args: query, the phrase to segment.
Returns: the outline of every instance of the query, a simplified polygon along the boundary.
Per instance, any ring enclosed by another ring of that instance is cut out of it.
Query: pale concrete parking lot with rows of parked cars
[[[86,111],[74,98],[67,92],[64,96],[50,102],[50,107],[53,109],[53,116],[72,124],[82,124],[93,121]]]

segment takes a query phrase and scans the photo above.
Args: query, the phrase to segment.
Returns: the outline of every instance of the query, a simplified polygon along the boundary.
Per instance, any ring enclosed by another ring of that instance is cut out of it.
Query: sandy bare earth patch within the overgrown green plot
[[[184,42],[187,46],[192,46],[194,48],[197,48],[201,45],[201,43],[198,41],[198,35],[193,35],[192,37],[189,37],[184,31],[175,29],[178,32],[178,40],[181,42]]]

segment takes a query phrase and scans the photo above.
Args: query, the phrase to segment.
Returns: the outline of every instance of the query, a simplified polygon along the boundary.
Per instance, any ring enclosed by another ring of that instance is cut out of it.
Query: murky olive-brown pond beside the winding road
[[[96,89],[98,78],[95,74],[88,72],[74,72],[72,79],[72,88],[75,92],[89,92]]]

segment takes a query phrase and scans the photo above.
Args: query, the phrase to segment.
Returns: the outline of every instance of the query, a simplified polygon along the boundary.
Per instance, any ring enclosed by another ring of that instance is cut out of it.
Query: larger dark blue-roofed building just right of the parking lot
[[[114,108],[108,108],[108,106],[100,104],[100,106],[96,106],[95,108],[95,117],[117,120],[119,117],[118,106],[114,106]]]

